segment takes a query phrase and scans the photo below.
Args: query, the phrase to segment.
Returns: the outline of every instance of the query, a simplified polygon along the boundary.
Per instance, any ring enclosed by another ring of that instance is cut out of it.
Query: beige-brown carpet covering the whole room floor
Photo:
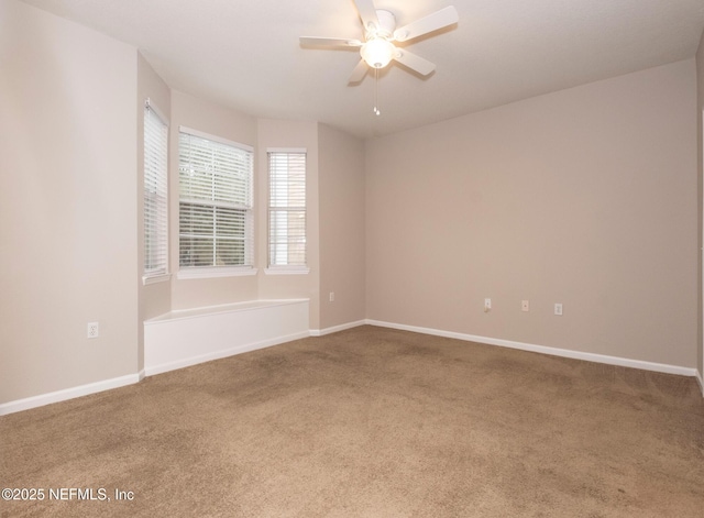
[[[361,327],[2,417],[0,469],[46,492],[2,518],[701,518],[704,401],[694,378]]]

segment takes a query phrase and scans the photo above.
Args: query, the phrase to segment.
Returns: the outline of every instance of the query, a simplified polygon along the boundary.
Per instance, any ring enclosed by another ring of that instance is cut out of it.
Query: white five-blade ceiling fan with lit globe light
[[[376,9],[374,0],[354,0],[356,10],[364,24],[364,40],[343,37],[301,36],[302,46],[326,48],[360,48],[362,59],[352,70],[349,82],[360,82],[366,76],[369,68],[378,70],[392,60],[427,76],[436,69],[433,63],[413,54],[405,48],[394,45],[394,42],[405,43],[425,34],[438,31],[457,23],[458,11],[452,5],[433,12],[420,20],[396,29],[396,16],[393,12]]]

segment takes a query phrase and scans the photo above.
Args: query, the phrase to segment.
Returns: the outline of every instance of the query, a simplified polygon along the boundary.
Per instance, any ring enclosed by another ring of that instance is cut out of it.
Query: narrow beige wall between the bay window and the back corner
[[[328,329],[365,317],[364,144],[324,124],[319,141],[320,329]]]

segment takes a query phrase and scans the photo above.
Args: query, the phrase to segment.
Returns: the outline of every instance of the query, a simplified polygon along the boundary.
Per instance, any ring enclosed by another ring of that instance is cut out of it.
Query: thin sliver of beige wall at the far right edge
[[[704,113],[704,33],[702,34],[702,37],[700,38],[700,46],[696,52],[696,79],[697,79],[697,109],[696,109],[696,131],[697,131],[697,137],[696,137],[696,146],[697,146],[697,178],[698,178],[698,184],[697,184],[697,188],[696,188],[696,192],[698,195],[698,212],[697,212],[697,222],[698,222],[698,250],[700,250],[700,266],[698,266],[698,272],[700,272],[700,283],[697,283],[697,286],[700,288],[700,307],[698,307],[698,338],[697,338],[697,342],[698,342],[698,348],[697,348],[697,360],[696,360],[696,366],[697,370],[700,372],[700,377],[704,376],[704,338],[703,338],[703,328],[702,328],[702,312],[704,311],[704,307],[703,307],[703,302],[702,302],[702,244],[703,244],[703,235],[702,233],[704,232],[704,214],[703,214],[703,192],[704,192],[704,120],[703,120],[703,113]],[[704,390],[704,385],[702,386],[702,389]]]

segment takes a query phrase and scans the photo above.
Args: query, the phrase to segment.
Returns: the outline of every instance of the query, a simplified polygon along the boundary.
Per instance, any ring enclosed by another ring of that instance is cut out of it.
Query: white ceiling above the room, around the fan
[[[383,135],[693,57],[704,0],[376,0],[405,25],[447,5],[459,23],[408,44],[436,63],[348,78],[354,49],[298,36],[362,38],[353,0],[24,0],[136,46],[174,89],[255,117]]]

